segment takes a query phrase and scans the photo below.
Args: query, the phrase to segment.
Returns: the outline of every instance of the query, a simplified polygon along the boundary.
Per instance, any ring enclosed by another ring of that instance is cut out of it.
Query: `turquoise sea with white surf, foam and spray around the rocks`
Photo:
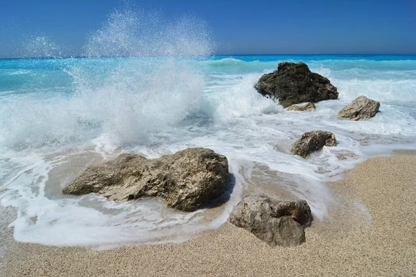
[[[336,202],[327,182],[370,157],[416,149],[414,55],[211,55],[204,27],[190,19],[152,37],[134,33],[130,17],[112,15],[87,40],[86,57],[0,60],[0,205],[8,211],[0,226],[13,240],[97,249],[180,242],[225,223],[245,188],[262,181],[305,199],[325,220]],[[39,38],[31,47],[39,42],[42,55],[57,49]],[[254,84],[283,61],[329,78],[338,99],[300,112],[261,96]],[[340,118],[358,96],[381,102],[379,113]],[[336,147],[308,159],[290,154],[318,129],[333,132]],[[197,147],[229,161],[233,184],[216,213],[62,194],[87,166],[120,153],[153,159]]]

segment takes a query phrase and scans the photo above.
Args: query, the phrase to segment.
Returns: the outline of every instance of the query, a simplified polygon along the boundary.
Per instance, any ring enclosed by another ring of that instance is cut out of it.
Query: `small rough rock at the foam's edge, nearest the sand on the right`
[[[306,132],[292,144],[291,153],[306,158],[311,152],[320,150],[324,146],[335,146],[336,138],[331,132]]]

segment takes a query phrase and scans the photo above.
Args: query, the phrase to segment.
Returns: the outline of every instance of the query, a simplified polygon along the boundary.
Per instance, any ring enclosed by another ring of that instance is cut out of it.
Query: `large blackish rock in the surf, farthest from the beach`
[[[277,71],[261,76],[255,88],[263,96],[279,100],[285,108],[301,102],[338,98],[327,78],[311,72],[303,62],[281,62]]]

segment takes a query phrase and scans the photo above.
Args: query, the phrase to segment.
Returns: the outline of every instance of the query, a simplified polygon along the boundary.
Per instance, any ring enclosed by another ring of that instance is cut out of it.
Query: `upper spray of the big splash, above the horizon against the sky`
[[[191,15],[166,23],[157,13],[115,10],[85,51],[89,57],[205,56],[214,43],[205,22]]]

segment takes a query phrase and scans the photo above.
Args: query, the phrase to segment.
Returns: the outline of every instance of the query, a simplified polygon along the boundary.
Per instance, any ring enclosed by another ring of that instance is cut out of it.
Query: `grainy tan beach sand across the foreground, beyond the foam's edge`
[[[299,247],[271,248],[229,223],[183,243],[107,251],[13,242],[1,274],[416,276],[415,168],[415,152],[398,152],[369,159],[329,184],[336,204],[327,220],[306,229]]]

